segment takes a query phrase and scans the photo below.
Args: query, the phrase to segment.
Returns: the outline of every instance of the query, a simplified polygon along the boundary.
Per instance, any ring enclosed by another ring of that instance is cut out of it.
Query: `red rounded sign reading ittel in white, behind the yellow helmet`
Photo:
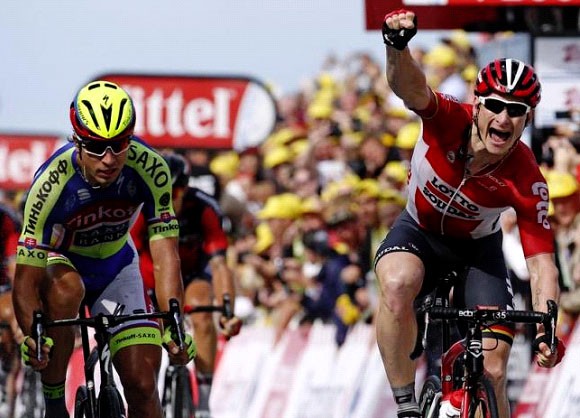
[[[235,148],[259,145],[272,131],[276,105],[247,77],[109,74],[133,99],[135,131],[153,147]]]

